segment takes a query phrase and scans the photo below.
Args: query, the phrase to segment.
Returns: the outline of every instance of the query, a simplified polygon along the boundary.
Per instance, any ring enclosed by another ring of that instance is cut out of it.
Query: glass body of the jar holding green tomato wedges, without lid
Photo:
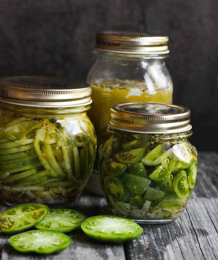
[[[100,146],[102,190],[114,215],[168,223],[184,210],[195,186],[197,150],[178,134],[112,130]]]

